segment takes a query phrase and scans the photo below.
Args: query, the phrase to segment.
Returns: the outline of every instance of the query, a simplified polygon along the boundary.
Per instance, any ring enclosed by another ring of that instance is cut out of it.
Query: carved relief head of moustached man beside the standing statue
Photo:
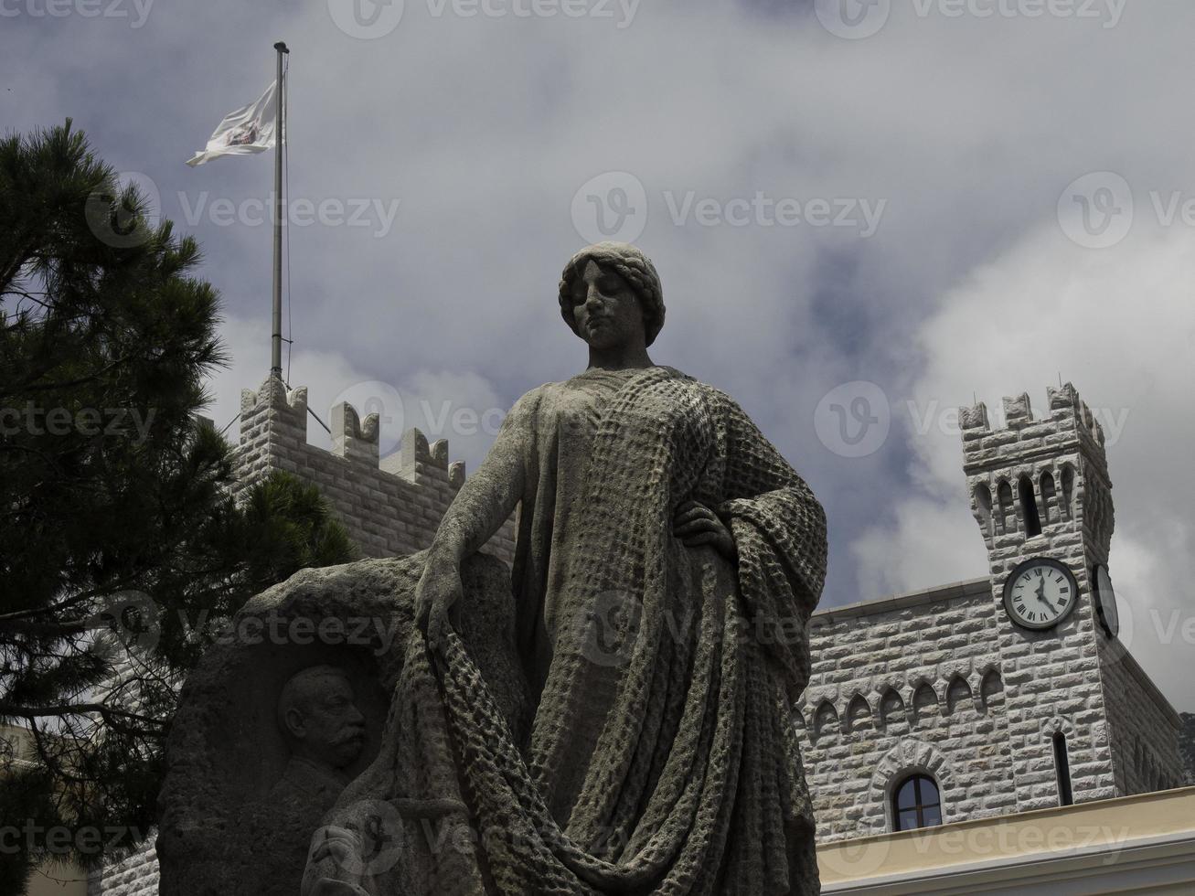
[[[295,756],[330,768],[351,766],[364,744],[366,719],[343,669],[312,665],[293,675],[278,696],[277,722]]]

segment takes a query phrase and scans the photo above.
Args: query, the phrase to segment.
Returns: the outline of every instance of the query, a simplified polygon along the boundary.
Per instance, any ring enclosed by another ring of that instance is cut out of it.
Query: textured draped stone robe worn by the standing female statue
[[[356,831],[356,876],[313,861],[307,884],[817,892],[790,719],[826,563],[808,486],[731,399],[666,367],[541,386],[498,438],[523,492],[511,579],[492,587],[511,590],[529,734],[455,633],[436,652],[412,633],[387,745],[326,820]],[[673,535],[691,499],[736,559]]]

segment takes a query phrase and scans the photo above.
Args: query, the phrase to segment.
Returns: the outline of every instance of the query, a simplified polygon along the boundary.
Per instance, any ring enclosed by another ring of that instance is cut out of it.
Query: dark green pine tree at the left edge
[[[212,622],[354,556],[313,486],[231,497],[232,448],[197,417],[227,361],[219,297],[196,243],[147,213],[69,119],[0,141],[0,726],[36,753],[5,759],[0,728],[0,818],[20,828],[0,892],[146,835]]]

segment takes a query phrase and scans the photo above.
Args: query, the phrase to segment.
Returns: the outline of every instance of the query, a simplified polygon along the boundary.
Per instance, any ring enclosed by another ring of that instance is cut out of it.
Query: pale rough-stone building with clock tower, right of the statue
[[[1056,734],[1076,803],[1182,785],[1177,713],[1097,621],[1092,569],[1114,522],[1103,432],[1073,386],[1048,403],[1034,419],[1028,395],[1006,398],[1003,429],[982,404],[962,410],[988,576],[814,615],[796,719],[822,841],[893,830],[893,790],[914,773],[937,781],[945,822],[1058,806]],[[1046,631],[1004,610],[1005,579],[1036,557],[1079,585]]]

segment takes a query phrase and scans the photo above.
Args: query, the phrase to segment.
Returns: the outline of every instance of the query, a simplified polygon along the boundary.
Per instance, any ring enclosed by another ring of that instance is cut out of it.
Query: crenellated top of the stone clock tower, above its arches
[[[987,405],[958,409],[963,441],[963,470],[968,475],[1040,456],[1073,450],[1089,468],[1108,481],[1104,431],[1073,383],[1048,386],[1047,417],[1035,419],[1028,393],[1004,399],[1004,426],[992,428]]]

